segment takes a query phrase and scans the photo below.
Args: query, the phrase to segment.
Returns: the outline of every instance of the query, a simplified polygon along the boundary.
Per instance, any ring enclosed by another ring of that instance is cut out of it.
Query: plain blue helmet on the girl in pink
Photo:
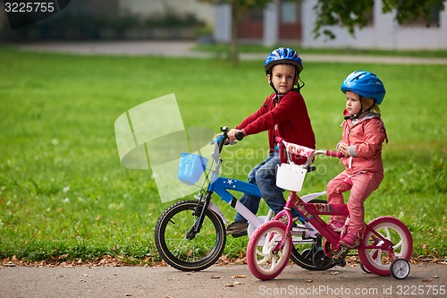
[[[340,89],[343,93],[353,91],[364,98],[375,98],[378,105],[384,101],[386,93],[384,83],[373,72],[365,71],[351,72]]]

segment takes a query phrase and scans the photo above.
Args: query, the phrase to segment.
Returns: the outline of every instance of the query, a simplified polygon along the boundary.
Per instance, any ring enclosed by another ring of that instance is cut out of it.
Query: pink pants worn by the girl
[[[348,200],[348,209],[350,211],[350,230],[355,230],[358,236],[363,234],[365,208],[363,202],[374,192],[384,179],[383,174],[379,173],[360,173],[350,177],[350,183],[347,183],[348,173],[343,171],[335,176],[327,184],[327,202],[329,204],[344,204],[342,192],[350,190],[350,199]],[[335,216],[333,220],[344,223],[346,217]]]

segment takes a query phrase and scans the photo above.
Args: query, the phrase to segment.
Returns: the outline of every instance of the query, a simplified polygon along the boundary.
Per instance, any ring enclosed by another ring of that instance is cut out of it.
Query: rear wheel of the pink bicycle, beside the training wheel
[[[409,233],[409,228],[405,226],[401,220],[394,217],[378,217],[371,221],[370,226],[377,233],[382,234],[384,238],[392,241],[395,259],[409,260],[413,251],[413,238]],[[375,237],[373,232],[367,230],[361,241],[361,246],[379,244],[380,239]],[[379,249],[363,249],[358,248],[358,257],[363,266],[368,271],[378,276],[390,276],[390,265],[392,259],[388,251]]]

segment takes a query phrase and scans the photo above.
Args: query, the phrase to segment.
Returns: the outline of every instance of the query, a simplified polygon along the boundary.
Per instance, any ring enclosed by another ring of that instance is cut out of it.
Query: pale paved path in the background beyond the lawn
[[[21,50],[80,55],[164,55],[176,57],[212,57],[215,53],[193,51],[192,41],[97,41],[45,42],[16,44]],[[264,60],[264,54],[241,54],[242,60]],[[392,57],[371,55],[302,55],[309,62],[351,62],[380,64],[447,64],[447,58]]]

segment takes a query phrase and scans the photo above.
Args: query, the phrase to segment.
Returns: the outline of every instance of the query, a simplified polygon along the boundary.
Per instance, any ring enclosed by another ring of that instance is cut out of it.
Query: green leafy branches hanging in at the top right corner
[[[396,21],[404,22],[425,20],[429,26],[428,17],[433,9],[442,11],[444,0],[382,0],[383,13],[396,11]],[[321,33],[333,39],[332,30],[325,26],[338,25],[346,28],[350,35],[355,34],[356,29],[367,26],[367,15],[371,13],[375,0],[318,0],[314,10],[316,12],[315,37]]]

